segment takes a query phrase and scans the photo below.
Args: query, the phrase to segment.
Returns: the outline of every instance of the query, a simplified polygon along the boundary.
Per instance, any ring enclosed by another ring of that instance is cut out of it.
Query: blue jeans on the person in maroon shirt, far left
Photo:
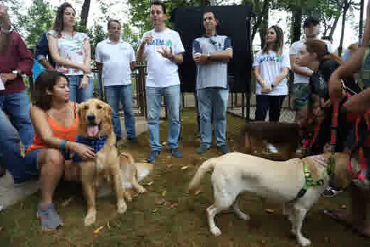
[[[35,129],[30,119],[30,100],[27,92],[22,91],[0,96],[0,108],[8,114],[11,123],[19,131],[20,140],[25,148],[30,147]]]

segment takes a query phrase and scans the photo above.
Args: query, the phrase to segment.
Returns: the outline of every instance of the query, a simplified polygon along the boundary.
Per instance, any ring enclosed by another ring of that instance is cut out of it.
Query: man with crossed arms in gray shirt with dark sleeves
[[[204,13],[203,25],[206,34],[194,40],[192,49],[197,64],[196,90],[202,140],[197,153],[206,152],[211,147],[213,122],[217,147],[226,154],[229,152],[226,143],[228,61],[233,58],[233,47],[227,36],[216,34],[218,19],[214,12]]]

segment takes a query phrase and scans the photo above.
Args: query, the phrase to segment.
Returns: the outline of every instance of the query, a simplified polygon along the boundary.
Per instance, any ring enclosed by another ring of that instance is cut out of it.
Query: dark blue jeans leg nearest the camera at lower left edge
[[[5,165],[14,181],[25,181],[37,175],[37,171],[20,155],[19,142],[18,131],[0,109],[0,163]]]

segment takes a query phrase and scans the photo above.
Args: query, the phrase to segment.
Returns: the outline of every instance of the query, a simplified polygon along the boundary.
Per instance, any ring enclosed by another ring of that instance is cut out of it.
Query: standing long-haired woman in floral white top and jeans
[[[85,33],[76,32],[75,9],[68,3],[58,8],[53,30],[48,32],[50,54],[56,71],[69,80],[70,101],[84,102],[92,97],[90,42]]]

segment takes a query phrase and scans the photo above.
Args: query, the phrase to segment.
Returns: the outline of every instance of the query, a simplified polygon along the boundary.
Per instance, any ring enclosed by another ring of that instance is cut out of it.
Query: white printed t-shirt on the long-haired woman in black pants
[[[283,68],[290,68],[290,58],[287,51],[283,51],[281,56],[278,56],[274,51],[262,53],[257,52],[254,56],[253,68],[259,67],[259,74],[267,85],[272,85],[273,80],[281,73]],[[262,86],[257,82],[256,95],[262,95]],[[271,92],[263,95],[288,95],[287,79],[284,78],[280,83],[273,88]]]

